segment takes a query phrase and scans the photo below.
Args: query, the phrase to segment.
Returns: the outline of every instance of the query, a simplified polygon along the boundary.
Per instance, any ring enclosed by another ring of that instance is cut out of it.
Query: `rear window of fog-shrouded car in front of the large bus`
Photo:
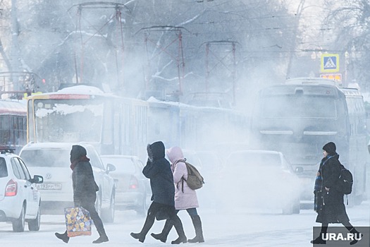
[[[237,152],[228,160],[230,166],[258,166],[258,167],[282,167],[278,154],[265,154],[259,152]]]

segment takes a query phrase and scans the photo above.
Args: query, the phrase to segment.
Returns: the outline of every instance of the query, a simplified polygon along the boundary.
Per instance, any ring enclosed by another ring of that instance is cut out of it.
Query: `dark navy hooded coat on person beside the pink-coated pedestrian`
[[[156,203],[175,205],[175,186],[171,164],[165,158],[164,143],[156,142],[148,145],[147,165],[142,174],[150,179],[152,200]]]

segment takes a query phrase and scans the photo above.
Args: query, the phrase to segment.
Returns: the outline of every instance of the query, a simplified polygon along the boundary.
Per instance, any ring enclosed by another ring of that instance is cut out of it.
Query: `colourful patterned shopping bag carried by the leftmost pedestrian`
[[[66,207],[64,216],[69,237],[91,235],[92,220],[90,212],[85,210],[85,208]]]

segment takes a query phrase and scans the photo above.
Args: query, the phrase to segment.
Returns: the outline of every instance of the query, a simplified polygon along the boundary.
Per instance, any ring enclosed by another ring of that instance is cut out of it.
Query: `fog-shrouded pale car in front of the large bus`
[[[231,152],[217,185],[221,203],[280,209],[285,215],[300,212],[300,179],[281,152]]]

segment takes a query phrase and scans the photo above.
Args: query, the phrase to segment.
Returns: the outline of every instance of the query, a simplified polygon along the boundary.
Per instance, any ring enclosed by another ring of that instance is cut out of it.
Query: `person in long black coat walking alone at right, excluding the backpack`
[[[344,193],[338,186],[342,169],[345,167],[339,162],[335,143],[323,145],[323,159],[321,159],[314,186],[316,222],[321,223],[321,233],[311,243],[326,244],[323,236],[328,231],[328,224],[341,223],[352,234],[360,234],[350,224],[350,218],[345,211]],[[354,243],[357,243],[357,240],[350,242],[351,245]]]

